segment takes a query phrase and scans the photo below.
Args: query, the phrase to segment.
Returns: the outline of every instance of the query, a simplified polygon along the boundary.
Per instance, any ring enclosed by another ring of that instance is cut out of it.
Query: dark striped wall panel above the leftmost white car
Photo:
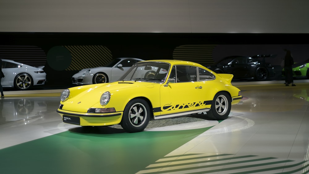
[[[46,53],[37,46],[0,45],[0,58],[35,67],[46,64]]]

